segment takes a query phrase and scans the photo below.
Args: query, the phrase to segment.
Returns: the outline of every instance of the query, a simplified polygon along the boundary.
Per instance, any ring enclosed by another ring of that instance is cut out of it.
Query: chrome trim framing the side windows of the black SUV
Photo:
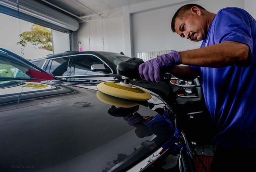
[[[101,58],[99,58],[97,55],[94,55],[94,54],[91,54],[91,53],[84,53],[84,54],[76,54],[76,55],[66,55],[66,56],[61,56],[61,57],[55,57],[55,58],[47,58],[46,62],[43,64],[42,66],[42,69],[45,67],[45,64],[47,63],[49,65],[49,62],[50,60],[53,60],[53,59],[56,59],[56,58],[65,58],[65,57],[69,57],[69,60],[68,60],[68,66],[71,62],[71,58],[75,58],[75,56],[80,56],[80,55],[93,55],[95,56],[96,58],[98,58],[100,61],[102,61],[106,66],[108,66],[108,68],[110,68],[111,70],[111,73],[109,74],[105,74],[105,73],[102,73],[102,74],[88,74],[88,75],[66,75],[66,76],[55,76],[55,77],[59,77],[59,78],[66,78],[66,77],[83,77],[83,76],[99,76],[99,75],[112,75],[114,74],[114,71],[113,69],[108,65],[107,62],[103,61]]]

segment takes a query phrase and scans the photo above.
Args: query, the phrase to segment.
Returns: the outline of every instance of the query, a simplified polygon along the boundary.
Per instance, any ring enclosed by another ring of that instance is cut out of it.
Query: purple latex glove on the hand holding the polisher
[[[146,80],[159,83],[160,70],[170,72],[175,65],[181,63],[179,52],[172,51],[168,54],[163,54],[152,60],[146,61],[139,65],[139,75]]]

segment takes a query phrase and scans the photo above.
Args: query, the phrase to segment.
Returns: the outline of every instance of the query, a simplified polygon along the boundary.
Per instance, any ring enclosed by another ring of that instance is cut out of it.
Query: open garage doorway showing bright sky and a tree
[[[70,50],[70,39],[67,33],[19,20],[3,13],[0,13],[0,24],[2,26],[0,27],[0,47],[26,59],[33,60]],[[4,27],[3,24],[5,24]]]

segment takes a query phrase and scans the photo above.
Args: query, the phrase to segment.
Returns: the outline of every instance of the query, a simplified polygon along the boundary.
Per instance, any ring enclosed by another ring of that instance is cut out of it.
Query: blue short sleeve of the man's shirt
[[[229,7],[218,12],[215,22],[215,42],[234,41],[247,44],[253,53],[252,16],[244,9]],[[253,55],[253,54],[251,54]]]

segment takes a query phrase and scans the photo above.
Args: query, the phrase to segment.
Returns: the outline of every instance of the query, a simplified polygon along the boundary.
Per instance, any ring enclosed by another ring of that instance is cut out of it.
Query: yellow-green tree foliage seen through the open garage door
[[[26,46],[27,43],[32,43],[34,47],[52,51],[52,31],[43,26],[34,24],[31,31],[23,32],[19,36],[22,40],[17,45]]]

